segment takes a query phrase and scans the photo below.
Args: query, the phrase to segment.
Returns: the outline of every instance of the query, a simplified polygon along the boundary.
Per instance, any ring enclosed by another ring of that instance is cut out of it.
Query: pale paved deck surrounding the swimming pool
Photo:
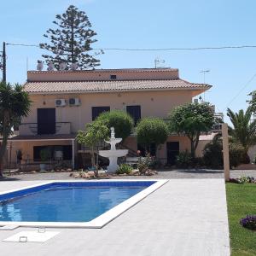
[[[3,181],[0,191],[44,181]],[[170,179],[102,229],[47,229],[44,243],[4,242],[23,230],[0,231],[0,255],[226,256],[229,228],[223,178]]]

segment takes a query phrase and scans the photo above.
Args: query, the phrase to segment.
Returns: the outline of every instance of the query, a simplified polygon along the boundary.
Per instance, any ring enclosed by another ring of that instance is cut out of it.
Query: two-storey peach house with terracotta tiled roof
[[[84,150],[75,140],[77,131],[100,113],[122,109],[135,122],[147,116],[166,119],[173,108],[192,102],[209,88],[180,79],[175,68],[28,71],[24,90],[32,108],[22,119],[18,135],[9,139],[7,155],[15,164],[21,150],[23,163],[37,165],[40,151],[48,147],[52,160],[78,167]],[[140,147],[134,135],[124,145],[131,153]],[[156,154],[163,163],[172,164],[185,149],[189,149],[188,138],[172,135]]]

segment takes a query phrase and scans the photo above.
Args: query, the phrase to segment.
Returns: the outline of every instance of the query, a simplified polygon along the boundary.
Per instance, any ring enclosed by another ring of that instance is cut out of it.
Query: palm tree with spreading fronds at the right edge
[[[230,127],[230,135],[244,149],[244,163],[249,163],[250,159],[247,152],[256,144],[256,120],[251,121],[252,110],[247,108],[245,113],[242,109],[238,113],[234,113],[228,108],[227,115],[234,126],[234,128]]]

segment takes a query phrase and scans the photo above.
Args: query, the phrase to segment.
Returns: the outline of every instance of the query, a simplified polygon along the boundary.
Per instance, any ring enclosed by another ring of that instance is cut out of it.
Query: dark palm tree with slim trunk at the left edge
[[[13,127],[19,125],[20,119],[29,113],[31,101],[20,84],[0,83],[0,177],[3,176],[3,155],[5,154],[8,137]]]

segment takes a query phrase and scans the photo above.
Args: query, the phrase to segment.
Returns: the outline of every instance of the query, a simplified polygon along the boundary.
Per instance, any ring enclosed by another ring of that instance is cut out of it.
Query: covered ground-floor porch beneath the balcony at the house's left
[[[5,168],[37,171],[41,163],[49,170],[55,166],[75,168],[77,144],[75,134],[15,136],[9,139],[5,155]],[[49,160],[42,160],[41,150],[49,150]]]

